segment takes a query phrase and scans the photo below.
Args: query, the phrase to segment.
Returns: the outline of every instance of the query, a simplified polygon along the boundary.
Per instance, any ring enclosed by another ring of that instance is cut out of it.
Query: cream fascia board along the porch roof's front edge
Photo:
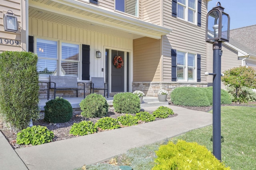
[[[146,27],[146,28],[152,29],[154,31],[161,32],[161,35],[166,35],[166,34],[169,34],[170,32],[172,32],[172,29],[162,27],[159,25],[155,25],[152,23],[148,23],[145,21],[141,21],[141,20],[138,20],[135,18],[131,18],[131,17],[122,15],[122,14],[117,14],[117,13],[99,8],[97,6],[92,6],[92,5],[84,3],[84,2],[80,2],[80,1],[76,1],[76,0],[52,0],[52,1],[58,2],[60,4],[65,4],[67,6],[72,6],[74,8],[78,8],[80,10],[86,10],[88,12],[92,12],[94,14],[98,14],[101,16],[106,16],[106,17],[112,18],[114,20],[124,21],[125,23],[131,23],[133,25],[140,26],[140,27]]]

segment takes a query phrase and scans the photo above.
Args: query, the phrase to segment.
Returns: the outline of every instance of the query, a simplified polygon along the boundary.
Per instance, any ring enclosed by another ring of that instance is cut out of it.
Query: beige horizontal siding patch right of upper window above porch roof
[[[142,1],[142,21],[160,25],[161,15],[160,0],[143,0]]]

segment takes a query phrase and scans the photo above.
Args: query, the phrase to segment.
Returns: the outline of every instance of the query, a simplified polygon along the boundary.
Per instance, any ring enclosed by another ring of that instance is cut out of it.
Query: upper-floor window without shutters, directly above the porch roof
[[[115,10],[138,17],[139,0],[115,0]]]

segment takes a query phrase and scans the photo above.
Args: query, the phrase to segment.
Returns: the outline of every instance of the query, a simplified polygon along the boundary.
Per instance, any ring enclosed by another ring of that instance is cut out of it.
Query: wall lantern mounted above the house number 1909
[[[17,32],[18,31],[18,21],[17,17],[14,16],[11,10],[8,10],[4,14],[4,31]]]

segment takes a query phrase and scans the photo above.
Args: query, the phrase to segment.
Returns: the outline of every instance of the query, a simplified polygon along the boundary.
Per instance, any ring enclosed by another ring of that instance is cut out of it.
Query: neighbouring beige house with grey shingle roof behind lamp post
[[[230,40],[222,43],[221,72],[238,66],[250,66],[256,70],[256,25],[230,30]],[[212,45],[207,45],[207,71],[212,72]],[[212,77],[207,76],[208,86]],[[222,84],[222,88],[225,86]]]

